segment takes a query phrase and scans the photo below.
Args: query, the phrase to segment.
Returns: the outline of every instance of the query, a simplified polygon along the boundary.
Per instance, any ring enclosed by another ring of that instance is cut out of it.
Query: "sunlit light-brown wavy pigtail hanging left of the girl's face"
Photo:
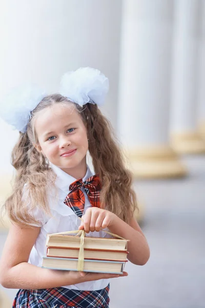
[[[55,190],[54,172],[43,154],[33,146],[29,134],[32,136],[30,125],[25,133],[19,132],[19,139],[13,148],[11,157],[16,169],[15,178],[12,194],[3,207],[12,222],[25,226],[38,224],[32,215],[36,208],[50,215],[46,190],[48,185],[53,185]]]

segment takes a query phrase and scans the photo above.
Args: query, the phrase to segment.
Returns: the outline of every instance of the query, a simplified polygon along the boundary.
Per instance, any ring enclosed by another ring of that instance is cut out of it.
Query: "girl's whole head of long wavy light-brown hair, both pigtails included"
[[[38,224],[31,214],[36,207],[51,215],[47,189],[55,189],[56,175],[49,167],[47,159],[34,147],[34,144],[38,143],[34,121],[41,110],[54,104],[73,104],[79,112],[87,128],[94,171],[99,175],[102,184],[101,208],[129,223],[137,208],[136,195],[132,189],[132,174],[125,167],[124,155],[114,137],[110,122],[97,105],[88,103],[80,107],[60,94],[48,95],[37,105],[32,111],[26,132],[19,133],[19,139],[13,148],[12,165],[16,169],[16,175],[12,195],[5,202],[10,220],[27,226]]]

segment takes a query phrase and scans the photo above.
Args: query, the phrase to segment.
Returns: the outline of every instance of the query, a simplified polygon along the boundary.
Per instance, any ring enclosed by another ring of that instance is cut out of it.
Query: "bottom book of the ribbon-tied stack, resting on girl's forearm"
[[[77,259],[43,257],[43,268],[77,271]],[[122,274],[124,261],[84,260],[84,272]]]

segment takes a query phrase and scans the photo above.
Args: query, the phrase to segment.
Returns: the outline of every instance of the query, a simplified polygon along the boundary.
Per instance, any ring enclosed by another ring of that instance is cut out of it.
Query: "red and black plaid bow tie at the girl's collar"
[[[82,179],[76,180],[69,186],[70,192],[64,200],[64,203],[71,207],[77,216],[82,217],[85,206],[85,195],[80,187],[84,187],[91,205],[100,207],[99,195],[101,183],[98,175],[90,177],[85,182]]]

